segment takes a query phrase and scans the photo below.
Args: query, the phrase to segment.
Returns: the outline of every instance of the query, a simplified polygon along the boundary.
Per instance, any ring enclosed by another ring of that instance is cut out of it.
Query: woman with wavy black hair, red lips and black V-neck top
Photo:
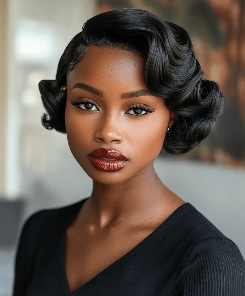
[[[89,19],[39,90],[45,128],[67,133],[90,197],[23,226],[14,296],[245,295],[234,242],[170,191],[153,162],[208,136],[224,98],[188,33],[142,9]]]

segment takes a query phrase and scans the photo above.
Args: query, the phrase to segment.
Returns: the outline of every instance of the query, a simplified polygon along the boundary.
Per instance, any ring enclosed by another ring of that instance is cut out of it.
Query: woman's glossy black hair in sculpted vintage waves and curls
[[[73,37],[60,58],[56,80],[39,82],[47,111],[41,118],[45,128],[66,133],[66,92],[60,88],[89,46],[124,49],[144,58],[147,89],[164,98],[166,107],[178,115],[166,133],[166,152],[188,152],[209,135],[224,107],[218,83],[203,79],[204,72],[185,29],[136,8],[95,15]]]

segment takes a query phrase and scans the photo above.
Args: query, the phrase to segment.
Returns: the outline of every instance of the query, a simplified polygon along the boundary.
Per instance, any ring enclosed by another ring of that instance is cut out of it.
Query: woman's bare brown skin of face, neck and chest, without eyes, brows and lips
[[[151,94],[121,99],[123,93],[147,90],[143,77],[141,57],[95,46],[89,47],[68,74],[68,144],[79,165],[93,179],[91,197],[67,229],[65,262],[71,291],[132,250],[185,203],[162,184],[153,168],[176,115],[169,112],[164,99]],[[72,89],[76,83],[99,89],[103,97]],[[89,99],[99,108],[93,105],[93,110],[81,110],[86,109],[84,104],[80,108],[71,104],[71,100],[78,99]],[[136,103],[156,109],[136,117],[131,114],[137,113],[129,110]],[[97,170],[88,155],[98,148],[121,152],[128,158],[126,165],[117,172]]]

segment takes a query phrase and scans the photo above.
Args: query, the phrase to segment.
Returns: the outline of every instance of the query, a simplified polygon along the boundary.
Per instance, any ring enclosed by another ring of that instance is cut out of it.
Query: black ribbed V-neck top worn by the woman
[[[25,221],[15,258],[13,296],[245,296],[241,252],[190,203],[70,293],[65,232],[84,201],[41,210]]]

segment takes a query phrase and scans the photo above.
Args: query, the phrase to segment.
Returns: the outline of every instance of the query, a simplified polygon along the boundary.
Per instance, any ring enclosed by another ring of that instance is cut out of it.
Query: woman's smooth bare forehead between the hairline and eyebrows
[[[119,84],[142,87],[144,60],[126,50],[91,46],[67,77],[70,87],[77,82],[93,83],[97,88]]]

